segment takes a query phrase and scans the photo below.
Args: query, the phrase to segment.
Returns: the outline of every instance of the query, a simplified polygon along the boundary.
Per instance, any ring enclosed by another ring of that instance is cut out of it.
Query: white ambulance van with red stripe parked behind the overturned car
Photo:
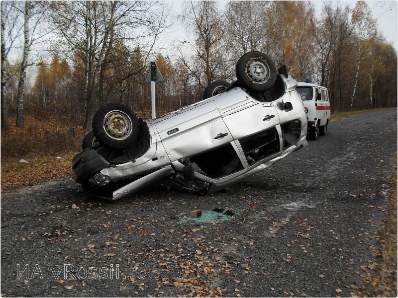
[[[308,136],[317,140],[318,136],[325,135],[330,122],[330,102],[327,89],[312,83],[298,82],[296,88],[304,103],[307,114]]]

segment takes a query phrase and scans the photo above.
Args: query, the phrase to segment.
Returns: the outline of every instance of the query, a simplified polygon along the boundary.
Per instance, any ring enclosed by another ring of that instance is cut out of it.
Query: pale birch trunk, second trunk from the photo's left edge
[[[18,128],[23,128],[23,93],[25,89],[26,67],[30,50],[29,41],[29,1],[25,1],[24,23],[23,23],[23,56],[21,70],[19,73],[18,93],[16,96],[16,124]]]

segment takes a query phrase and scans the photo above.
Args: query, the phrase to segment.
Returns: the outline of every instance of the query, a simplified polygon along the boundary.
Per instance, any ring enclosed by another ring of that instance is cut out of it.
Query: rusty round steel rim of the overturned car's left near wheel
[[[110,138],[122,141],[131,135],[132,122],[126,113],[114,110],[103,118],[103,129]]]

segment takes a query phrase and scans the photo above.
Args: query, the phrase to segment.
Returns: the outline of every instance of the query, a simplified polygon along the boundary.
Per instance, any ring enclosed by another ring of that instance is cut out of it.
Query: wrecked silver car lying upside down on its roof
[[[103,105],[73,159],[75,180],[109,200],[169,178],[213,193],[305,146],[307,119],[286,67],[277,71],[267,55],[250,52],[236,76],[228,85],[209,84],[210,97],[153,120],[122,104]]]

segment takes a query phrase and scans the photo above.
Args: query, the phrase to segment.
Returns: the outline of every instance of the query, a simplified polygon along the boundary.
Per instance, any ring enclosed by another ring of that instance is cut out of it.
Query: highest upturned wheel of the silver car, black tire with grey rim
[[[266,71],[264,70],[266,68]],[[262,71],[254,73],[254,69]],[[240,57],[236,63],[236,78],[239,84],[253,92],[265,92],[271,88],[277,79],[274,62],[261,52],[249,52]],[[255,77],[253,77],[255,75]]]

